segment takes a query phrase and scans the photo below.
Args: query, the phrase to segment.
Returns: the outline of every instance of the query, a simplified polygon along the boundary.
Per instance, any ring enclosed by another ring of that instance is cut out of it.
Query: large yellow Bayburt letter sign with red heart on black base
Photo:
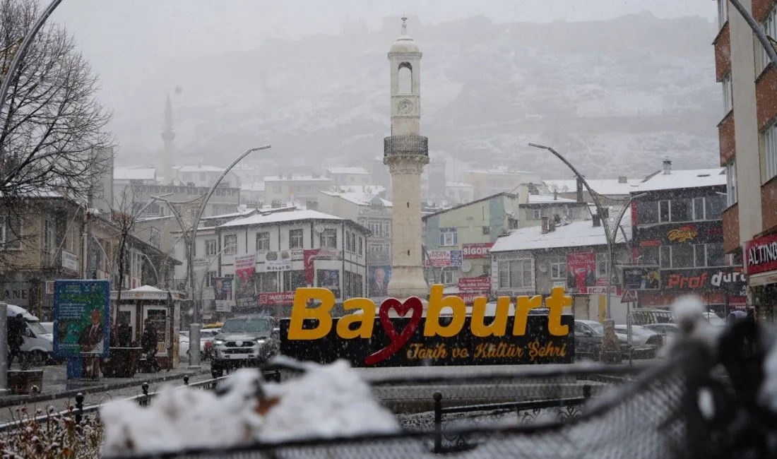
[[[468,315],[462,298],[444,297],[443,286],[434,285],[425,316],[417,297],[389,298],[379,308],[368,298],[351,298],[343,304],[346,315],[333,318],[331,291],[300,288],[291,318],[280,321],[280,353],[319,363],[346,359],[355,367],[573,362],[574,319],[563,314],[572,298],[563,287],[544,305],[540,296],[499,297],[493,316],[486,316],[487,301],[476,297]],[[529,313],[543,307],[548,314]]]

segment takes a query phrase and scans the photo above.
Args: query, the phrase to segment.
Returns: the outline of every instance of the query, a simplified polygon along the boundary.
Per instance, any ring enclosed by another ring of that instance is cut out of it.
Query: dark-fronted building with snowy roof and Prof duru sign
[[[742,266],[723,246],[725,169],[664,169],[632,192],[636,266],[655,271],[658,282],[643,284],[643,308],[667,308],[685,294],[699,294],[709,311],[725,316],[744,306]]]

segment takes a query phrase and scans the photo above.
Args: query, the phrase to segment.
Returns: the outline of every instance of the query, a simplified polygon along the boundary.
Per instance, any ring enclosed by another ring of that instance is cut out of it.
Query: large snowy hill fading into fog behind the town
[[[357,164],[389,134],[389,62],[399,19],[368,32],[267,40],[256,50],[160,68],[117,113],[120,161],[161,151],[159,96],[171,84],[176,163],[226,164],[271,143],[279,162]],[[678,169],[716,166],[722,112],[713,24],[650,13],[587,23],[409,21],[423,51],[422,134],[460,162],[569,176],[530,141],[563,152],[591,177],[644,175],[669,156]],[[161,75],[165,75],[162,78]],[[293,158],[293,159],[292,159]]]

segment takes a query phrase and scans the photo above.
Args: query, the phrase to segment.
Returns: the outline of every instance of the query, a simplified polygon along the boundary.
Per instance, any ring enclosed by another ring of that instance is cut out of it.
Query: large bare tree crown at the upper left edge
[[[0,0],[0,68],[40,14],[36,0]],[[5,52],[4,52],[5,51]],[[0,193],[5,198],[60,190],[84,199],[110,167],[94,151],[112,146],[111,113],[96,99],[97,75],[56,24],[44,26],[22,56],[0,113]]]

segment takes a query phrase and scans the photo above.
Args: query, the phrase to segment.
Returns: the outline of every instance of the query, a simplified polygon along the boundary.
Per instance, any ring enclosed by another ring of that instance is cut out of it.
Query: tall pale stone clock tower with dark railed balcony
[[[389,50],[391,137],[383,139],[383,163],[392,176],[392,275],[389,296],[426,298],[421,265],[421,172],[429,163],[429,142],[420,135],[421,51],[407,34]],[[402,80],[402,81],[400,81]]]

